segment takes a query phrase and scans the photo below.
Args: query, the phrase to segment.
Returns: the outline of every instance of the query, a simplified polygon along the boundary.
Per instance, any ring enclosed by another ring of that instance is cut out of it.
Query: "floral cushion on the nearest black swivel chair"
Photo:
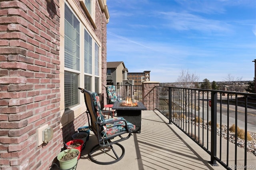
[[[112,134],[118,133],[118,132],[123,132],[126,131],[125,129],[125,123],[122,120],[125,120],[123,117],[116,117],[116,118],[110,118],[110,119],[104,119],[104,116],[102,115],[102,111],[100,110],[100,98],[97,93],[91,92],[92,94],[92,100],[93,100],[93,105],[94,109],[97,115],[97,119],[100,122],[106,122],[106,124],[103,126],[102,125],[102,136],[110,136]],[[109,121],[116,121],[120,120],[118,122],[114,123],[107,123]],[[132,123],[127,122],[128,129],[129,130],[135,130],[135,125]]]

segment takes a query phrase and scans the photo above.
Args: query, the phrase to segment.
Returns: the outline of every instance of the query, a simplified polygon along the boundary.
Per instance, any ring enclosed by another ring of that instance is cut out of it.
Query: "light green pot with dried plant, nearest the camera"
[[[71,168],[76,169],[78,162],[78,156],[80,152],[78,149],[66,149],[60,152],[57,156],[57,159],[60,163],[60,169],[69,170]]]

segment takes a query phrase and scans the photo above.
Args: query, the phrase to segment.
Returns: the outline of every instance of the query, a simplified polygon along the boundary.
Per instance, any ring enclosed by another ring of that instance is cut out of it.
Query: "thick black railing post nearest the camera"
[[[217,166],[217,92],[211,92],[211,161],[212,166]]]

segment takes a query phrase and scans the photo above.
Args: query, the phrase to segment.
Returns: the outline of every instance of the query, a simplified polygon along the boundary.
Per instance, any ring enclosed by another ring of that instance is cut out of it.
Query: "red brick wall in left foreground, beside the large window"
[[[0,167],[48,169],[60,152],[58,1],[0,2]],[[36,129],[54,138],[37,146]]]

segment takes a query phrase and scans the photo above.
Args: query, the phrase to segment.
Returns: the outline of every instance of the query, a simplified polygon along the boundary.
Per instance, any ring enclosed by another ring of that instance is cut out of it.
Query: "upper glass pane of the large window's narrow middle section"
[[[92,74],[92,37],[84,30],[84,73]]]

